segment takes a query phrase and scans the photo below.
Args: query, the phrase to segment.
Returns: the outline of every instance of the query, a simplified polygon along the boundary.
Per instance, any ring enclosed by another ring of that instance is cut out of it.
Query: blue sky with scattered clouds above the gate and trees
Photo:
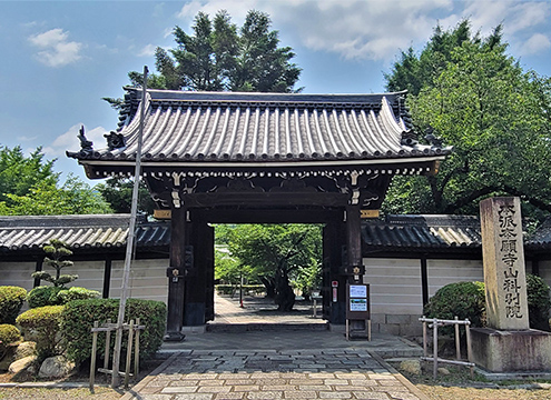
[[[175,26],[189,32],[198,11],[220,9],[239,26],[249,9],[268,12],[281,44],[297,54],[306,93],[381,92],[401,50],[421,50],[436,23],[450,28],[464,18],[482,34],[503,22],[510,53],[551,76],[549,1],[0,0],[0,144],[41,146],[58,158],[57,171],[86,180],[65,150],[79,149],[81,124],[104,147],[118,116],[101,98],[121,97],[128,71],[154,71],[152,52],[174,46]]]

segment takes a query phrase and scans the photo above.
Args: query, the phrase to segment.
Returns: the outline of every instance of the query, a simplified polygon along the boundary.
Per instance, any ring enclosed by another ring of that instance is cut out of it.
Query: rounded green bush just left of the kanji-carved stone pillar
[[[452,320],[469,319],[472,327],[483,327],[485,322],[485,293],[483,282],[456,282],[440,288],[424,307],[427,318]],[[453,327],[442,328],[451,333]]]

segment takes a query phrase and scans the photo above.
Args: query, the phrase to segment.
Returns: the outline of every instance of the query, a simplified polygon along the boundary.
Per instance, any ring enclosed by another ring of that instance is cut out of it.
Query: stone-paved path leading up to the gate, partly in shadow
[[[124,400],[425,400],[365,350],[187,350],[175,353]]]

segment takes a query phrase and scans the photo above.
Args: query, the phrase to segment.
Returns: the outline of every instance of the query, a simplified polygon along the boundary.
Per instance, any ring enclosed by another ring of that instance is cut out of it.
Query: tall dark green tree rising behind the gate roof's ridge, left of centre
[[[213,20],[199,12],[193,34],[176,27],[177,47],[157,48],[160,77],[155,76],[152,83],[173,90],[295,91],[301,68],[291,62],[292,48],[278,47],[278,32],[270,26],[269,16],[256,10],[247,13],[240,29],[225,10]]]

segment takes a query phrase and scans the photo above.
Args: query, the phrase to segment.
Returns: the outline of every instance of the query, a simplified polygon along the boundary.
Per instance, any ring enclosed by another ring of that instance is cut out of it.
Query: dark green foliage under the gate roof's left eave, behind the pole
[[[101,193],[110,208],[117,212],[130,212],[132,201],[134,181],[128,178],[109,178],[105,183],[98,183],[96,189]],[[138,192],[138,210],[146,214],[152,214],[155,201],[152,201],[144,180],[140,181]]]

